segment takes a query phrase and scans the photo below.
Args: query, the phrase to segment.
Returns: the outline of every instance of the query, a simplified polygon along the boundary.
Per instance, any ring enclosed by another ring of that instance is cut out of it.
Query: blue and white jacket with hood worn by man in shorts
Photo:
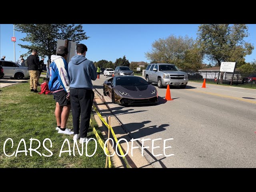
[[[65,90],[69,93],[70,76],[68,74],[68,63],[62,56],[57,55],[52,55],[51,60],[49,90],[52,92]]]

